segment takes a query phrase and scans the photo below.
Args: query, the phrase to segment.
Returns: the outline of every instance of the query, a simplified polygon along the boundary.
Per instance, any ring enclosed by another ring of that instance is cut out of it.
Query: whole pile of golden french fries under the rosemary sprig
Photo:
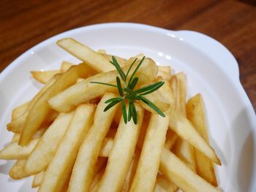
[[[183,72],[146,58],[137,86],[165,82],[146,96],[165,118],[138,101],[138,123],[124,123],[120,105],[104,112],[117,89],[90,83],[115,83],[112,55],[71,38],[57,44],[83,62],[31,72],[44,87],[12,111],[12,141],[0,151],[1,159],[16,160],[12,179],[32,175],[32,188],[47,192],[219,191],[214,164],[221,162],[209,143],[203,99],[187,101]],[[115,57],[126,72],[143,55]]]

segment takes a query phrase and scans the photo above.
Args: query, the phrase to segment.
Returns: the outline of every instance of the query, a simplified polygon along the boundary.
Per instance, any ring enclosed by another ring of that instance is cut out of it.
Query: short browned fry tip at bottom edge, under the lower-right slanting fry
[[[167,178],[164,175],[157,174],[157,181],[154,188],[154,192],[175,192],[176,190],[177,185],[167,180]]]

